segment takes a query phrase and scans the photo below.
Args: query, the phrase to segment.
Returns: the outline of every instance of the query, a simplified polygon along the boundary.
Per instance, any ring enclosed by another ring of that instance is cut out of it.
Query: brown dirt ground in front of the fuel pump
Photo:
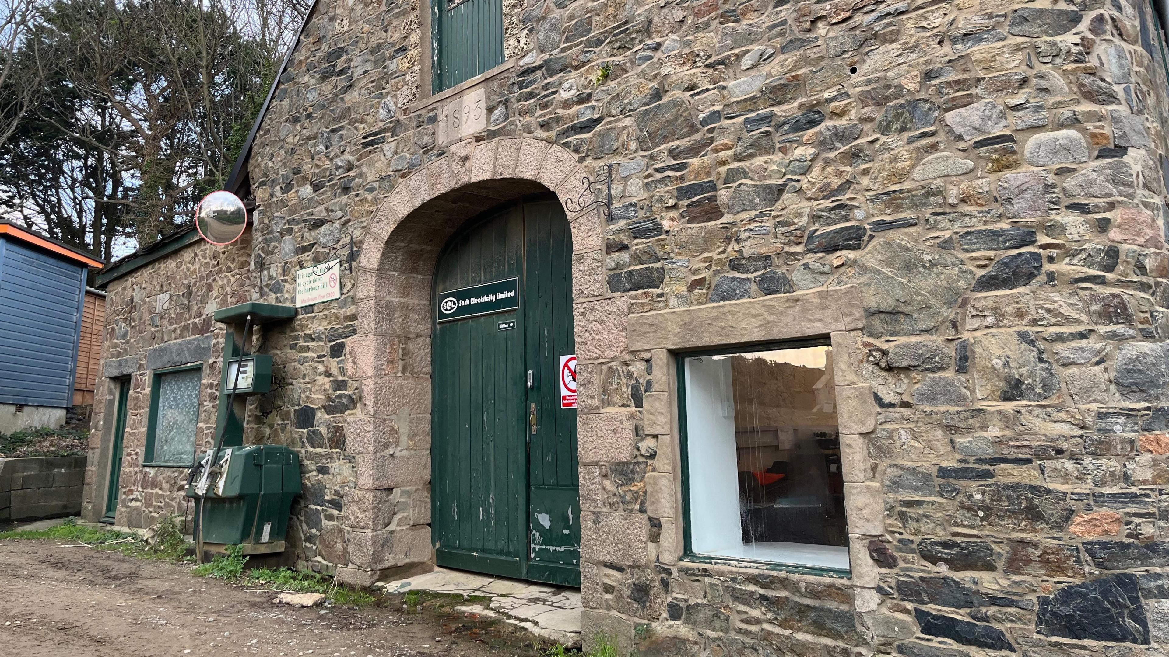
[[[68,545],[68,544],[65,544]],[[0,540],[0,655],[537,656],[530,635],[434,600],[364,609],[272,604],[191,567],[60,541]]]

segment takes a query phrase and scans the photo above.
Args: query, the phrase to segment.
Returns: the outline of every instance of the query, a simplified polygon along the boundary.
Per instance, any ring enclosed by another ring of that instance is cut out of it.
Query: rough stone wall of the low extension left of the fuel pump
[[[223,325],[213,321],[212,316],[220,307],[248,300],[249,290],[238,283],[235,272],[248,270],[250,251],[250,233],[230,247],[212,247],[198,241],[109,285],[83,518],[96,521],[105,513],[117,380],[120,378],[129,378],[131,387],[115,523],[150,527],[162,514],[192,518],[193,509],[184,495],[187,469],[143,466],[150,415],[150,372],[202,362],[195,445],[198,450],[208,449],[215,434],[224,336]]]

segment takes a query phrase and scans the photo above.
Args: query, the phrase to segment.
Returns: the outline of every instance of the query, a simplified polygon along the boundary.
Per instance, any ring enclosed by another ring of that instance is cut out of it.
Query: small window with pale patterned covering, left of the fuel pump
[[[154,372],[151,382],[146,462],[189,468],[195,459],[202,367]]]

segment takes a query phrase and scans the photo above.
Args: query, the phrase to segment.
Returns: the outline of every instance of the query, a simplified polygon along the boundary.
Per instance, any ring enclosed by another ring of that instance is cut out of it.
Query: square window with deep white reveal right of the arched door
[[[848,570],[831,347],[680,362],[690,554]]]

